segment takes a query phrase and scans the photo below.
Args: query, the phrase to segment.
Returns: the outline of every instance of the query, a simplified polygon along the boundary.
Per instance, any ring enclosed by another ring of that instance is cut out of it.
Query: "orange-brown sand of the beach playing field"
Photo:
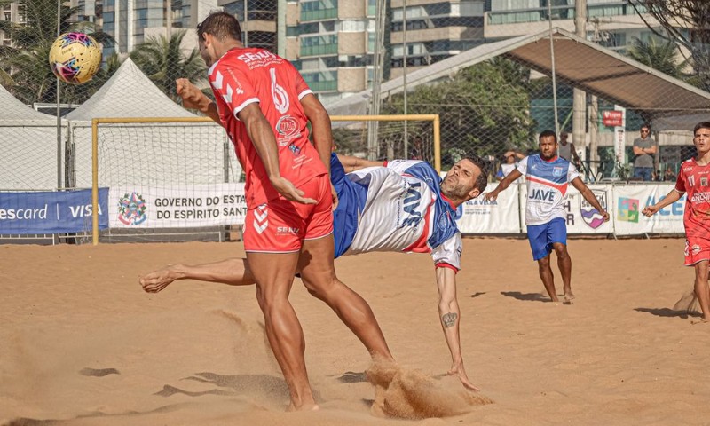
[[[413,421],[372,412],[367,351],[299,280],[291,300],[321,407],[311,413],[284,411],[254,287],[183,280],[147,294],[138,284],[163,264],[241,256],[239,242],[2,245],[0,425],[707,424],[710,324],[673,310],[694,277],[683,246],[572,240],[577,298],[564,305],[544,296],[527,241],[464,239],[458,297],[474,398],[442,376],[450,356],[430,257],[339,259],[409,372],[400,396],[445,415]]]

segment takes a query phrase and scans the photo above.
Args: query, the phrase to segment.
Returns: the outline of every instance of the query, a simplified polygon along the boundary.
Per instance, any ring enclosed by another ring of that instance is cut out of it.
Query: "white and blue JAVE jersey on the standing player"
[[[580,177],[572,163],[561,157],[546,162],[539,154],[530,155],[517,163],[517,170],[527,181],[525,225],[542,225],[556,217],[567,217],[564,209],[567,185]]]

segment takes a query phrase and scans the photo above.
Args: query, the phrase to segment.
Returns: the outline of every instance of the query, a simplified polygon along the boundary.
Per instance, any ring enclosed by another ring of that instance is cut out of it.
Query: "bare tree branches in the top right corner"
[[[627,0],[646,26],[659,37],[690,51],[686,58],[695,82],[710,91],[710,2],[707,0]],[[644,19],[644,12],[659,21],[659,31]]]

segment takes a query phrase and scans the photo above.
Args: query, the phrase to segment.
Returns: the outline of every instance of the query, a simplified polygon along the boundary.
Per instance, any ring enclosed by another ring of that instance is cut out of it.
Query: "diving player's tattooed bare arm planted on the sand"
[[[461,355],[461,335],[459,323],[461,311],[459,302],[456,299],[456,272],[447,267],[437,268],[438,287],[438,314],[441,327],[444,330],[446,344],[451,352],[451,368],[449,375],[457,375],[463,386],[469,390],[478,390],[469,381],[466,370],[463,367],[463,357]]]

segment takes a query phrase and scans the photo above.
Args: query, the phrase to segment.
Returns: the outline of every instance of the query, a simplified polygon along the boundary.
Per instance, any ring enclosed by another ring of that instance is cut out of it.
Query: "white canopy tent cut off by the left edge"
[[[0,191],[56,190],[64,152],[62,145],[58,154],[57,118],[26,106],[3,86],[0,111]]]

